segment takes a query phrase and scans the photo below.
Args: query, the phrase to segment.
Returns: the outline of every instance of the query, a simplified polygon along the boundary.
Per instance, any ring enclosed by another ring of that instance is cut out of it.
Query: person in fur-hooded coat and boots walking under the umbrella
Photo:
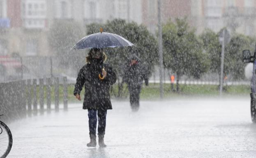
[[[85,86],[83,109],[88,110],[90,131],[87,147],[96,147],[97,118],[99,146],[106,147],[106,114],[108,109],[112,109],[109,89],[116,82],[116,75],[110,65],[104,64],[105,60],[106,55],[101,49],[92,48],[86,57],[87,64],[78,73],[74,88],[74,95],[81,100],[80,92]]]

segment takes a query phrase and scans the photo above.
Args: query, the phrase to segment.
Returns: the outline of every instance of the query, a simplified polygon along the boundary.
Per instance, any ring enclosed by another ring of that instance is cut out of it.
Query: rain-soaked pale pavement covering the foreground
[[[256,158],[256,124],[248,98],[128,101],[108,110],[105,143],[88,148],[87,111],[44,114],[9,124],[9,158]]]

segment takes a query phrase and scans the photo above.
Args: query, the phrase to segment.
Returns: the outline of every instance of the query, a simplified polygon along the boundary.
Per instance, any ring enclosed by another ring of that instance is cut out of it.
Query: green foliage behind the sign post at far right
[[[211,30],[205,30],[200,39],[203,43],[203,49],[208,54],[210,62],[210,72],[220,75],[221,65],[221,44],[219,42],[219,33]],[[244,64],[242,62],[242,50],[254,48],[254,39],[242,34],[234,34],[231,40],[225,46],[224,54],[224,76],[231,74],[233,79],[244,78]]]

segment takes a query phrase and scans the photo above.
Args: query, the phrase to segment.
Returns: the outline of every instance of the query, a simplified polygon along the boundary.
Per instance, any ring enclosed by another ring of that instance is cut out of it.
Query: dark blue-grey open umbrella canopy
[[[71,49],[85,48],[114,48],[123,46],[134,46],[130,41],[117,34],[99,32],[83,37]]]

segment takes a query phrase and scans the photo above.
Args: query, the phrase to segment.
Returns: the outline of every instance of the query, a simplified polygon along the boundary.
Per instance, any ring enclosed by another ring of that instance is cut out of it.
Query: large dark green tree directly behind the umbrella
[[[152,66],[157,62],[157,41],[145,26],[138,25],[135,22],[127,23],[122,19],[107,21],[105,24],[93,23],[87,25],[87,34],[99,32],[100,27],[104,29],[104,32],[118,34],[135,45],[132,47],[104,49],[108,56],[107,62],[117,71],[119,85],[118,97],[121,97],[123,83],[120,79],[123,73],[125,73],[123,72],[123,66],[128,61],[129,56],[136,53],[147,68],[145,71],[148,71],[148,74],[150,75]]]

